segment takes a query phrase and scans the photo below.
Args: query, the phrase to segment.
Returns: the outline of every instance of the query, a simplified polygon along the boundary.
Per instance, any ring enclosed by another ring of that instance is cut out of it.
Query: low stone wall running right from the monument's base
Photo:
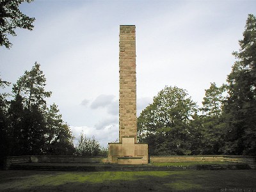
[[[189,161],[227,161],[235,163],[246,163],[251,168],[256,168],[256,157],[252,156],[150,156],[150,163],[174,163]]]

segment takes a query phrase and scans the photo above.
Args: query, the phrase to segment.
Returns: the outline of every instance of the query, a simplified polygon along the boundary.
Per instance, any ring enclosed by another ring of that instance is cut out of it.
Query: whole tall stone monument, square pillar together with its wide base
[[[110,163],[147,164],[148,145],[137,143],[136,36],[134,25],[119,35],[119,143],[109,143]]]

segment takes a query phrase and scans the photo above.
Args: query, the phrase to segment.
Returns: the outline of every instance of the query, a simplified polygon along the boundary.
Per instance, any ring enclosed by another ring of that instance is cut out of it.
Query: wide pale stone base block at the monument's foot
[[[122,143],[109,143],[109,163],[148,164],[148,144],[134,143],[134,138],[122,138]]]

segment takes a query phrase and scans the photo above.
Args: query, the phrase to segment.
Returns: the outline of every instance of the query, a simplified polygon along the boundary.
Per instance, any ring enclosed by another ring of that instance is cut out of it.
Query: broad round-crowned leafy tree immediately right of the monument
[[[192,116],[196,103],[185,90],[166,86],[138,117],[140,141],[148,143],[150,155],[191,154]]]

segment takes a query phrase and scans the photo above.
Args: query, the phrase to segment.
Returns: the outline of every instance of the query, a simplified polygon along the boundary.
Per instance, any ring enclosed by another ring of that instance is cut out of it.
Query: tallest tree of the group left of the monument
[[[10,135],[13,138],[13,154],[44,154],[47,133],[45,97],[51,96],[51,92],[44,89],[45,82],[40,64],[35,63],[30,71],[25,71],[17,83],[13,84],[15,99],[11,101],[9,110],[12,120]]]

